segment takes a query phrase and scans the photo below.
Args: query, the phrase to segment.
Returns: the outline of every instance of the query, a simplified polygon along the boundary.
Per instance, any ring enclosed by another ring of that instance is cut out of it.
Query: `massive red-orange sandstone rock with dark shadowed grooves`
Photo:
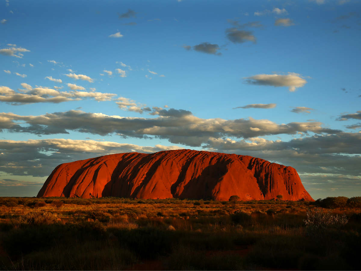
[[[171,150],[105,155],[58,165],[38,197],[313,201],[292,167],[260,158]]]

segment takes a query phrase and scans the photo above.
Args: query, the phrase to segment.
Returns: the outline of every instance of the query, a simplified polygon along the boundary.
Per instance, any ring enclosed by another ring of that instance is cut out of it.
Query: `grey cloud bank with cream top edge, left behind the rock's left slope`
[[[95,140],[39,139],[27,141],[0,140],[0,169],[18,176],[48,176],[61,163],[121,152],[153,153],[184,149],[178,146],[138,146]],[[44,154],[48,152],[48,154]],[[14,182],[3,180],[3,182]],[[0,180],[1,184],[1,180]],[[41,184],[40,184],[41,185]]]

